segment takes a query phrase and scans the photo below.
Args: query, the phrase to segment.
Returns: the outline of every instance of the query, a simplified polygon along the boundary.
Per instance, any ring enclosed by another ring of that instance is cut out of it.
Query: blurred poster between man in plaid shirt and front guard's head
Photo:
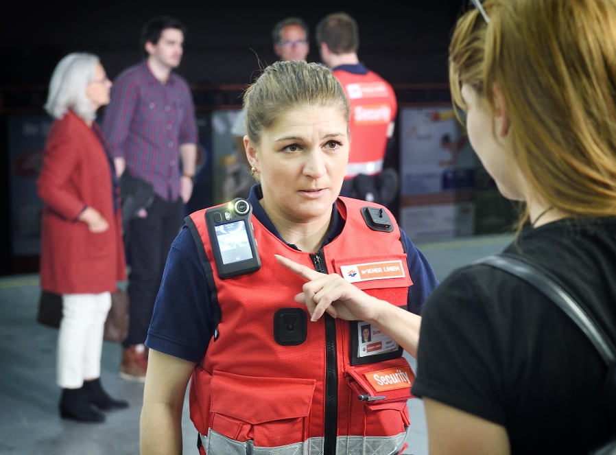
[[[214,203],[247,198],[252,187],[246,152],[238,150],[231,127],[239,110],[215,110],[212,113],[212,152]]]

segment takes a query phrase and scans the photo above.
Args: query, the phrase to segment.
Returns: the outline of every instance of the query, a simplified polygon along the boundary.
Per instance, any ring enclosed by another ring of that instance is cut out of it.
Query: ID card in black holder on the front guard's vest
[[[351,324],[351,365],[399,358],[403,349],[375,325],[363,320]]]

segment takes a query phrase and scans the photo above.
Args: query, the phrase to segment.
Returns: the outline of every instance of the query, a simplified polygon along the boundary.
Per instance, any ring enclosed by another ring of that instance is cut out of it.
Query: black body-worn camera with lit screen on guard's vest
[[[244,275],[261,268],[251,216],[252,206],[242,198],[205,211],[205,221],[220,278]]]

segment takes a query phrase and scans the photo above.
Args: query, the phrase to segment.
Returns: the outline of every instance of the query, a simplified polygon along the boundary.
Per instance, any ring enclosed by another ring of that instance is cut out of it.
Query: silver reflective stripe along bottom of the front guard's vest
[[[396,455],[404,445],[406,432],[395,436],[338,436],[336,453],[338,455]],[[323,438],[309,438],[303,443],[281,445],[279,447],[254,447],[252,441],[240,443],[214,430],[209,436],[201,436],[207,455],[323,455]]]

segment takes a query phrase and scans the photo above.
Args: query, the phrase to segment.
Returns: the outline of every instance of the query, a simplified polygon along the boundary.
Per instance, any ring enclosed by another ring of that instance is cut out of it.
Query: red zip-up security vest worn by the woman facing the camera
[[[414,377],[401,350],[379,353],[388,358],[380,362],[378,356],[360,357],[389,343],[377,327],[370,327],[372,342],[364,342],[359,337],[367,323],[327,314],[313,323],[307,316],[307,338],[300,345],[274,339],[276,311],[305,312],[294,296],[306,282],[276,263],[274,254],[315,270],[327,268],[368,294],[407,305],[412,281],[399,228],[394,222],[390,233],[372,231],[360,213],[364,206],[339,198],[344,229],[313,254],[289,248],[253,215],[261,269],[228,279],[218,277],[205,211],[190,216],[222,314],[191,380],[190,413],[202,454],[395,455],[403,448]],[[385,398],[360,401],[359,395]]]

